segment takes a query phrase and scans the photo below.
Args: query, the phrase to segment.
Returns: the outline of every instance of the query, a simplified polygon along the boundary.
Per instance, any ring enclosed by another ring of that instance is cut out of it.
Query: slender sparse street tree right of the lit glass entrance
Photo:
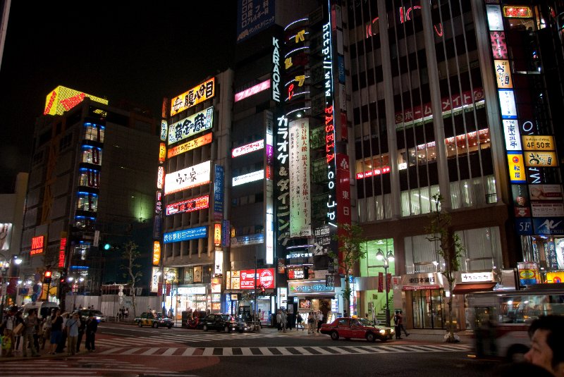
[[[460,257],[464,252],[464,246],[460,242],[460,237],[450,228],[450,214],[444,211],[441,204],[443,203],[441,194],[436,193],[431,196],[431,225],[425,228],[425,231],[431,234],[427,237],[429,242],[439,245],[436,252],[444,259],[445,265],[441,273],[446,278],[450,290],[453,289],[455,273],[460,269]],[[458,342],[454,336],[453,326],[453,295],[448,298],[448,342]]]

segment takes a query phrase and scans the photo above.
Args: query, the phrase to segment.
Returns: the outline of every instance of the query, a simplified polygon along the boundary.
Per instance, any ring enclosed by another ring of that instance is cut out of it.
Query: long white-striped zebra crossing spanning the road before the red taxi
[[[391,354],[421,352],[467,352],[470,345],[354,345],[295,347],[111,347],[97,354],[159,357],[326,356],[341,354]]]

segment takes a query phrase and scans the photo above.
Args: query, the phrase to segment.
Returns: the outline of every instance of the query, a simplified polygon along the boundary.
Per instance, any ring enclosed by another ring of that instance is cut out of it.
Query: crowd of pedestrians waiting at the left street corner
[[[74,355],[80,352],[82,338],[86,335],[85,347],[92,352],[95,348],[98,321],[94,316],[81,318],[78,311],[61,313],[53,309],[50,315],[39,319],[37,310],[31,309],[25,319],[22,311],[12,307],[0,324],[1,357],[39,357],[44,354]]]

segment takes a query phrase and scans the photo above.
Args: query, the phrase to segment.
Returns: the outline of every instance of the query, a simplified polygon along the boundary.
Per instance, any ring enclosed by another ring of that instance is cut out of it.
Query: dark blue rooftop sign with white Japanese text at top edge
[[[274,25],[274,0],[237,2],[237,43]]]

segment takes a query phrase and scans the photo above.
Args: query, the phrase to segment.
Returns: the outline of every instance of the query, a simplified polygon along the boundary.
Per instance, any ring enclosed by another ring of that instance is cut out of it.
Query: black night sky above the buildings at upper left
[[[237,1],[12,0],[0,66],[0,193],[29,171],[35,118],[58,85],[160,117],[174,97],[233,66]]]

